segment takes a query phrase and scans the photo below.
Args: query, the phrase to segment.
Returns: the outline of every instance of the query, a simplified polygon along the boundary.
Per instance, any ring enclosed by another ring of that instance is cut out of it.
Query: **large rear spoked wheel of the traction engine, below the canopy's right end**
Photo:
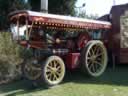
[[[100,41],[90,41],[82,50],[82,70],[87,75],[97,77],[103,74],[107,66],[107,52]]]

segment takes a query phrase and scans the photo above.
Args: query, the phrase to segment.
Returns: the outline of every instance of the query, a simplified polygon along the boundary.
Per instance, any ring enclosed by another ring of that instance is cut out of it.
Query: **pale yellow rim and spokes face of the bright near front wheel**
[[[65,66],[60,58],[52,56],[45,67],[45,76],[50,84],[58,84],[62,81],[65,74]]]

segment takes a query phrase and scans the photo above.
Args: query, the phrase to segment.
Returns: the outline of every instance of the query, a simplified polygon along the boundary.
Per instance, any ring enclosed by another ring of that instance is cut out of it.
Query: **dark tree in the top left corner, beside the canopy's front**
[[[8,28],[8,14],[15,10],[29,9],[23,0],[0,0],[0,30]]]

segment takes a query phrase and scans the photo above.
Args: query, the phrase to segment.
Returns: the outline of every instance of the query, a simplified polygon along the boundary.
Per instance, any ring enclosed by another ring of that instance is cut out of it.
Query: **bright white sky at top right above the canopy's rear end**
[[[77,0],[76,7],[82,6],[83,3],[86,3],[84,8],[87,14],[93,14],[102,16],[108,14],[111,10],[113,0]],[[128,0],[115,0],[115,5],[128,3]]]

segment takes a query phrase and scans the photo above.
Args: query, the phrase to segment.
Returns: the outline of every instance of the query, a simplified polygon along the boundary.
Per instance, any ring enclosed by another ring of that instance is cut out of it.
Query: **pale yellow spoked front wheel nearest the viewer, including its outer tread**
[[[43,80],[48,86],[59,84],[65,75],[65,65],[58,56],[50,56],[43,64]]]

